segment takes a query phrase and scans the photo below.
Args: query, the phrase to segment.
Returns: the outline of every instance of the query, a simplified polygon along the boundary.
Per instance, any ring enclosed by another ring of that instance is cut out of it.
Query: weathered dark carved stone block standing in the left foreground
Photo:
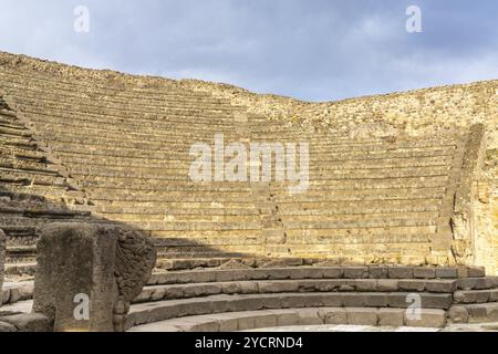
[[[33,311],[54,331],[121,332],[156,253],[128,228],[53,223],[41,231],[37,261]]]

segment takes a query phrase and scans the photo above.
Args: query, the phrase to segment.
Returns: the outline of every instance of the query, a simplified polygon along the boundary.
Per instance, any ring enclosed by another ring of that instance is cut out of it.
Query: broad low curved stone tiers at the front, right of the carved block
[[[443,327],[498,319],[498,278],[485,277],[479,269],[204,270],[157,273],[149,283],[132,305],[131,331],[218,332],[304,324]],[[407,312],[414,294],[422,301],[416,320]],[[473,304],[463,306],[464,301]]]

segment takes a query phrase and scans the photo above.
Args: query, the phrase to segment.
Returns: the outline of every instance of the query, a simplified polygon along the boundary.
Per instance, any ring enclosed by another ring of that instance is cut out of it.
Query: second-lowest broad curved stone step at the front
[[[127,327],[189,315],[292,308],[394,308],[411,305],[411,293],[279,293],[210,295],[198,299],[167,300],[135,304]],[[424,309],[448,310],[450,294],[421,293]],[[442,312],[443,313],[443,312]]]

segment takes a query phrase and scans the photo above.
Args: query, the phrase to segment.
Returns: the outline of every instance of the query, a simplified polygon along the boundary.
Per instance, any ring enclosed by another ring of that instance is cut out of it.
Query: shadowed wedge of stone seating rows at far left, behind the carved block
[[[85,196],[68,183],[17,113],[1,100],[0,229],[7,237],[7,274],[34,271],[35,229],[51,221],[90,220],[90,212],[70,210]]]

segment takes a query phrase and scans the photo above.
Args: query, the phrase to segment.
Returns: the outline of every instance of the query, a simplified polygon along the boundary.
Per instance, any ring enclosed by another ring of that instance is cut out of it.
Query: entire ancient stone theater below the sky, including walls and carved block
[[[497,126],[0,53],[0,332],[497,322]]]

